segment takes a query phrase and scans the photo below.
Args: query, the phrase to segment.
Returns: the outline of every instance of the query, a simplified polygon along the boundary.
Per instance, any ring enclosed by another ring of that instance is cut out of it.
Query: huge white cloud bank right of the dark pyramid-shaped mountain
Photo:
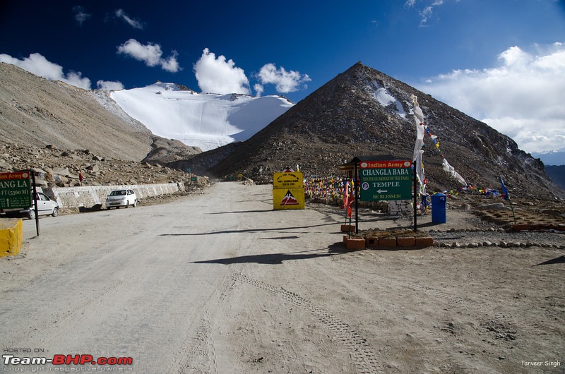
[[[526,152],[557,150],[565,140],[565,44],[511,47],[499,65],[456,70],[419,89],[509,135]]]

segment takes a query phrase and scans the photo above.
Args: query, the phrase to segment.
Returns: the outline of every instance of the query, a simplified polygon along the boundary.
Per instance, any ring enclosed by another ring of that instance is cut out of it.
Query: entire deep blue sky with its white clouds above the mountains
[[[564,1],[7,0],[0,61],[83,88],[294,102],[362,61],[539,152],[565,145]]]

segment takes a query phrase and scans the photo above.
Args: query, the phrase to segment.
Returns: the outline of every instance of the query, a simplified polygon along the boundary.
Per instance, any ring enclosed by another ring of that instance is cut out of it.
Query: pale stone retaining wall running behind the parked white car
[[[83,186],[83,187],[54,187],[42,188],[43,193],[56,200],[60,209],[93,207],[104,205],[110,191],[119,189],[133,190],[138,200],[150,196],[168,195],[184,191],[183,183],[134,184],[121,186]]]

